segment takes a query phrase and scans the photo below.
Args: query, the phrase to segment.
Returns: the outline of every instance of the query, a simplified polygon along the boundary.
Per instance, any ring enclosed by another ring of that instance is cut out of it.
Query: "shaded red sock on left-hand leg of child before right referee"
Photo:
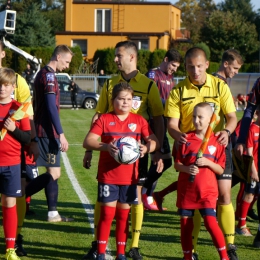
[[[181,246],[184,259],[192,259],[193,219],[181,218]]]

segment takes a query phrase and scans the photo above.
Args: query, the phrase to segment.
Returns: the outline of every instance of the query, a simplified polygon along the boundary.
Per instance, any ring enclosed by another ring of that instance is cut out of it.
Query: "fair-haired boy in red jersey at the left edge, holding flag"
[[[0,68],[0,129],[7,133],[0,141],[0,193],[3,229],[6,241],[6,259],[19,260],[14,244],[17,230],[16,198],[21,193],[21,143],[30,143],[29,117],[13,121],[10,116],[20,107],[12,100],[16,75],[12,69]]]

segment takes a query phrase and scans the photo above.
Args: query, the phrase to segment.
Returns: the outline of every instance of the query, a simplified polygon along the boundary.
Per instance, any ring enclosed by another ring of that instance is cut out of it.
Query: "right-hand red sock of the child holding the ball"
[[[118,254],[125,254],[126,242],[129,232],[128,215],[130,209],[116,209],[116,244]]]

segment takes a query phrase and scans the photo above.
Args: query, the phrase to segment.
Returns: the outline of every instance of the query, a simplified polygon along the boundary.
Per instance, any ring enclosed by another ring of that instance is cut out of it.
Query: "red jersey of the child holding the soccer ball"
[[[121,121],[114,112],[103,114],[95,121],[91,133],[101,136],[101,141],[110,143],[113,139],[131,136],[136,140],[152,134],[147,121],[140,115],[129,113]],[[130,185],[138,180],[138,161],[133,164],[119,164],[107,151],[101,151],[98,163],[98,181],[106,184]]]

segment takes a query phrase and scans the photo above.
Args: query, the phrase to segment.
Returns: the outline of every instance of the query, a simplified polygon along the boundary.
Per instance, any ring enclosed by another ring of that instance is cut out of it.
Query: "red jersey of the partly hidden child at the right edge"
[[[256,170],[258,171],[258,141],[259,141],[259,125],[253,123],[250,125],[247,140],[246,140],[246,147],[251,148],[253,147],[253,158]]]

